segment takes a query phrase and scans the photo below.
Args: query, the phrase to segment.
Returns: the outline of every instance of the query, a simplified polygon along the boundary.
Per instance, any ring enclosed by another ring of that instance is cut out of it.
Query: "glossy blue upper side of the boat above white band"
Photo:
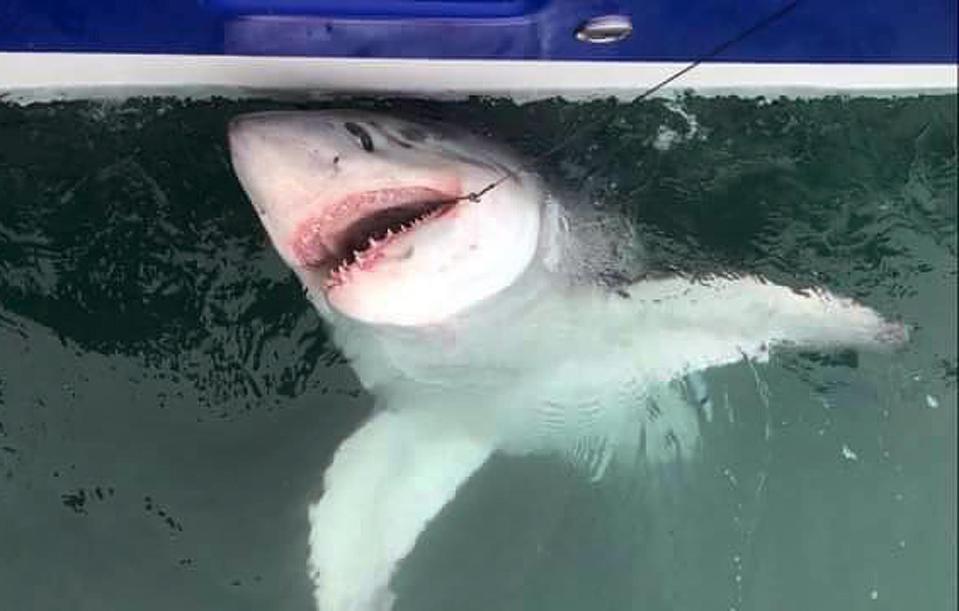
[[[0,0],[0,51],[690,61],[783,0]],[[954,0],[803,0],[729,62],[955,64]],[[379,7],[379,10],[377,10]],[[574,35],[629,18],[614,44]]]

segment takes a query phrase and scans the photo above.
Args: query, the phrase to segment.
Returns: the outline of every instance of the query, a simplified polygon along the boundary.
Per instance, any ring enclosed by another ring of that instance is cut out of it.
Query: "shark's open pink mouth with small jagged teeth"
[[[350,271],[374,264],[386,245],[454,208],[457,198],[427,187],[354,193],[304,223],[297,254],[326,272],[328,285],[340,284]]]

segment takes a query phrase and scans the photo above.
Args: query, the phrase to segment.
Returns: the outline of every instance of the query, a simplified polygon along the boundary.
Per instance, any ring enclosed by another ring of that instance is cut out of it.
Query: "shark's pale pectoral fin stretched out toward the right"
[[[743,358],[766,360],[776,346],[878,348],[904,342],[904,325],[824,290],[796,291],[755,277],[639,282],[628,307],[641,327],[640,371],[667,381]]]

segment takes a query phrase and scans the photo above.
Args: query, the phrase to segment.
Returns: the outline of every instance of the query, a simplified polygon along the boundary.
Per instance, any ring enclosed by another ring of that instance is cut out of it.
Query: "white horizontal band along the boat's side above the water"
[[[190,97],[398,94],[535,99],[635,97],[687,64],[0,53],[0,92],[14,101],[171,94]],[[703,63],[664,91],[704,95],[910,95],[957,89],[954,64]]]

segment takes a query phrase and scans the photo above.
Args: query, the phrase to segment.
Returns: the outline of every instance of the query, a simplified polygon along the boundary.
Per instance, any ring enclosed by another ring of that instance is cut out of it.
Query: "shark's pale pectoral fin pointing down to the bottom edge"
[[[443,410],[384,410],[336,451],[310,506],[320,611],[386,611],[389,581],[419,534],[492,452]]]

